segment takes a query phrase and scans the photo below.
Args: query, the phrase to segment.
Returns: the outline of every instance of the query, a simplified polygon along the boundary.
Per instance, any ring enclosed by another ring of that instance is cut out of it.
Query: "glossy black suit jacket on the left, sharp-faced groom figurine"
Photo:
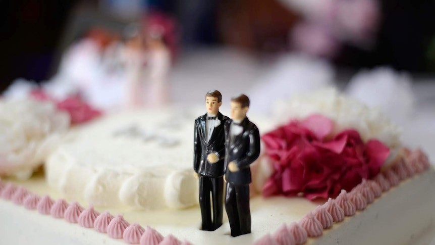
[[[213,129],[213,133],[211,134],[210,140],[208,142],[205,133],[207,114],[204,114],[195,120],[193,169],[199,175],[205,175],[209,177],[224,176],[224,124],[227,120],[229,120],[229,118],[222,115],[220,112],[217,113],[216,117],[221,121],[221,124]],[[213,152],[217,152],[219,155],[219,161],[217,163],[211,164],[207,161],[207,156]]]

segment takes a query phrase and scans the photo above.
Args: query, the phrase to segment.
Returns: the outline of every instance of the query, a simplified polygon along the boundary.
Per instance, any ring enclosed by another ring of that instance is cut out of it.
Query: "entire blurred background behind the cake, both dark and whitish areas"
[[[272,115],[279,100],[335,87],[433,162],[433,23],[434,0],[0,1],[0,91],[73,97],[99,115],[202,108],[218,89],[224,114],[243,92],[251,115]]]

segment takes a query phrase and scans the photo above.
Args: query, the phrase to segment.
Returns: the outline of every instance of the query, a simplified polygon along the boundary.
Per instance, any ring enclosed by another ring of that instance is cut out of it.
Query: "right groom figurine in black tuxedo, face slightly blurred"
[[[249,210],[249,165],[260,155],[260,133],[246,113],[249,98],[245,94],[231,98],[231,119],[225,122],[225,178],[227,191],[225,209],[231,235],[251,233]]]

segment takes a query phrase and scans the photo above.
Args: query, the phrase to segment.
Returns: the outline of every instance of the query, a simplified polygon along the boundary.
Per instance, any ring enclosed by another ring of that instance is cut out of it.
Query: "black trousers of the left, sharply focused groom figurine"
[[[213,219],[211,218],[210,204],[213,204]],[[222,225],[224,213],[224,177],[199,176],[199,206],[201,207],[202,230],[211,231]]]

